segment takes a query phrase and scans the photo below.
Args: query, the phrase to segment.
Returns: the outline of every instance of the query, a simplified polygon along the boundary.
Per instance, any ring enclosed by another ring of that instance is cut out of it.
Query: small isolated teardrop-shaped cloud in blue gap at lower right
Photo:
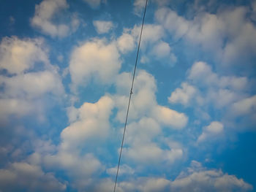
[[[197,139],[197,142],[203,142],[206,139],[216,139],[219,137],[224,131],[224,126],[222,123],[218,121],[211,122],[210,125],[203,128],[203,133]]]

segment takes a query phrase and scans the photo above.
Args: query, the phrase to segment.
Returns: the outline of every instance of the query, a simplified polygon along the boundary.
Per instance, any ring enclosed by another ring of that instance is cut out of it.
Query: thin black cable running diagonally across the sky
[[[135,61],[135,69],[134,69],[134,71],[133,71],[131,91],[130,91],[130,93],[129,93],[129,102],[128,102],[128,107],[127,107],[127,116],[126,116],[126,118],[125,118],[124,134],[123,134],[123,139],[122,139],[122,142],[121,142],[120,154],[119,154],[119,158],[118,158],[118,166],[117,166],[117,171],[116,171],[116,181],[115,181],[114,192],[116,192],[116,182],[117,182],[117,177],[118,177],[118,172],[119,172],[119,166],[120,166],[120,161],[121,161],[121,153],[122,153],[123,145],[124,145],[124,135],[125,135],[125,131],[126,131],[126,129],[127,129],[127,119],[128,119],[128,114],[129,114],[129,104],[130,104],[131,98],[132,98],[132,89],[133,89],[133,84],[134,84],[134,81],[135,81],[135,72],[136,72],[137,63],[138,63],[138,56],[139,56],[139,52],[140,52],[140,41],[141,41],[141,36],[142,36],[142,31],[143,31],[143,26],[144,26],[144,20],[145,20],[145,15],[146,15],[147,4],[148,4],[148,0],[146,0],[145,9],[144,9],[144,15],[143,15],[143,20],[142,20],[142,25],[141,25],[141,30],[140,30],[140,40],[139,40],[139,44],[138,44],[137,56],[136,56],[136,61]]]

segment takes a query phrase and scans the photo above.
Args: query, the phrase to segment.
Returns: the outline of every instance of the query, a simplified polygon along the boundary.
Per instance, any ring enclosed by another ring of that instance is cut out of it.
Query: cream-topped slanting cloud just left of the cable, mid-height
[[[103,96],[97,103],[84,103],[78,109],[78,119],[61,132],[61,147],[72,150],[85,145],[86,139],[106,137],[110,124],[108,118],[113,109],[113,100]]]

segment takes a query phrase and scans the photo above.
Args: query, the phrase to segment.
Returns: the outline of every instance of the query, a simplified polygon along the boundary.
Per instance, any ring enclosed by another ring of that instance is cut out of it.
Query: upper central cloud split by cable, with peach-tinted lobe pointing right
[[[114,96],[118,112],[116,119],[123,122],[127,110],[127,93],[132,77],[128,73],[119,74],[116,80],[117,95]],[[170,128],[184,128],[188,118],[184,113],[179,113],[164,106],[159,106],[156,101],[156,82],[151,74],[139,71],[135,77],[136,86],[134,88],[131,107],[130,120],[138,120],[142,117],[151,117],[163,126]]]

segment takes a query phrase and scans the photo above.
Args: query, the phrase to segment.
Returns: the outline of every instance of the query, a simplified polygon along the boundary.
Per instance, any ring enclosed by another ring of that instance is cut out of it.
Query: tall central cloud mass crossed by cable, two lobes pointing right
[[[113,100],[116,101],[118,112],[116,120],[124,122],[127,110],[127,93],[131,77],[128,73],[119,74],[116,80],[116,92]],[[124,156],[138,164],[173,164],[182,158],[182,147],[167,146],[163,150],[154,138],[162,134],[161,126],[167,128],[184,128],[187,125],[187,116],[168,107],[157,104],[155,92],[157,91],[154,77],[145,71],[139,71],[135,77],[135,88],[132,91],[132,101],[127,125],[127,147],[124,147]],[[166,145],[166,144],[164,144]],[[162,158],[159,158],[161,156]]]

